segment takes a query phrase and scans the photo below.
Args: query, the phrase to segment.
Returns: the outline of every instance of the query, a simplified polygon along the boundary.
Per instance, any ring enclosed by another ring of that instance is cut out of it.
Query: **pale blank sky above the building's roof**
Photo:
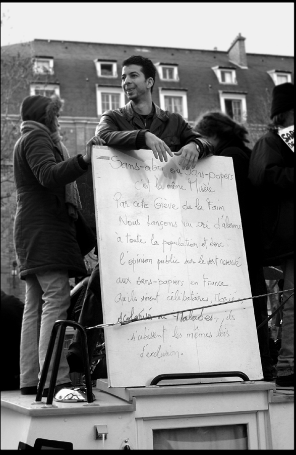
[[[294,55],[294,4],[2,3],[1,45],[33,39]]]

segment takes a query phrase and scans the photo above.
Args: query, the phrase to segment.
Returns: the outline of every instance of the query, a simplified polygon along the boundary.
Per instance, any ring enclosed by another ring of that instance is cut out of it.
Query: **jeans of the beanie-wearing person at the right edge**
[[[280,265],[284,278],[283,289],[292,289],[294,287],[294,259],[286,259]],[[283,300],[292,292],[283,292]],[[294,296],[286,301],[282,314],[281,348],[276,365],[277,376],[287,376],[294,373]]]

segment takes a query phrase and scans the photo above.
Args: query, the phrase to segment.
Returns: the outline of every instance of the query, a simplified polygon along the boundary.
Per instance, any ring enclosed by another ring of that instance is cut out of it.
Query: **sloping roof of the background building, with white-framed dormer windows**
[[[293,72],[293,57],[246,54],[248,68],[240,68],[229,61],[227,52],[195,49],[137,46],[127,44],[93,43],[35,39],[22,44],[5,46],[9,53],[53,56],[54,75],[51,82],[60,83],[65,100],[65,116],[96,117],[96,86],[121,85],[122,62],[131,55],[143,55],[153,63],[171,62],[177,66],[179,81],[165,81],[156,77],[153,101],[159,104],[158,88],[187,89],[190,119],[195,120],[205,110],[219,108],[219,90],[247,93],[248,113],[256,112],[258,100],[271,93],[274,82],[267,71]],[[96,61],[117,61],[116,78],[98,77]],[[220,84],[213,67],[235,68],[238,85]]]

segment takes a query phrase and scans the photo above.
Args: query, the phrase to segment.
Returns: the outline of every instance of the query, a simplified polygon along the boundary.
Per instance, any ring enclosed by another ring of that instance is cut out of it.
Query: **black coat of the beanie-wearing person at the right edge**
[[[255,144],[249,178],[260,202],[258,225],[264,265],[293,255],[294,154],[274,130]]]

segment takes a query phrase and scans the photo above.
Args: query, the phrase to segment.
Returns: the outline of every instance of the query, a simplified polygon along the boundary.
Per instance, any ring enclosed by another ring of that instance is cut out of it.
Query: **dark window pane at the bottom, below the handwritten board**
[[[168,428],[153,431],[154,450],[247,450],[247,425]]]

